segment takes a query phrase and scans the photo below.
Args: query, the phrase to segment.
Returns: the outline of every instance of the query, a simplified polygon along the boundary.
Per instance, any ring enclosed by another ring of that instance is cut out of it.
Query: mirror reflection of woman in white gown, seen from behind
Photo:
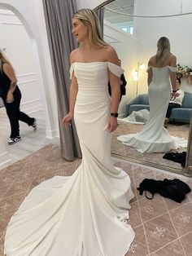
[[[187,141],[168,134],[164,128],[164,118],[170,97],[177,97],[177,59],[170,52],[168,38],[159,38],[157,53],[148,62],[148,97],[150,118],[143,130],[137,134],[120,135],[119,139],[127,146],[139,152],[168,152],[172,149],[185,148]],[[171,90],[171,85],[172,90]]]

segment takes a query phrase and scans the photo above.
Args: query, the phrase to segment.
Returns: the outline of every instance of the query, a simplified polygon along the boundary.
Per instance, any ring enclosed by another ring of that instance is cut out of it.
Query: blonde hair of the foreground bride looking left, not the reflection
[[[91,46],[103,47],[108,46],[102,38],[98,17],[94,11],[90,9],[81,9],[76,14],[72,15],[73,18],[81,20],[81,22],[88,27],[89,42]]]

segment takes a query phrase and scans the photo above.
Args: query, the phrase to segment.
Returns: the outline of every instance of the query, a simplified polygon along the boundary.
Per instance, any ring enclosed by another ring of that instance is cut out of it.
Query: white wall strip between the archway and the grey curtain
[[[46,117],[46,136],[53,138],[59,135],[58,116],[42,3],[38,0],[0,0],[0,8],[13,11],[24,24],[32,40],[37,79]],[[14,41],[14,38],[12,40]]]

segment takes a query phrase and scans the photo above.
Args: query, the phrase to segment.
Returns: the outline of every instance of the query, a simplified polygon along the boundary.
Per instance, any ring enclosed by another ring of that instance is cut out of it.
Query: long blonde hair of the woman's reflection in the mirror
[[[158,64],[159,66],[164,66],[168,55],[170,54],[170,42],[168,38],[159,38],[157,42],[157,53],[155,55],[156,64]]]

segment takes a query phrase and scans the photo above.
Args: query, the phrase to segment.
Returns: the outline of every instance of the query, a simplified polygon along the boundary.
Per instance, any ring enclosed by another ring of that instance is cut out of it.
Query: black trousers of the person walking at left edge
[[[6,97],[2,97],[2,100],[5,104],[7,116],[9,117],[10,125],[11,125],[11,135],[10,138],[15,138],[16,136],[20,135],[20,121],[24,121],[28,124],[28,126],[33,125],[34,118],[28,117],[23,112],[20,112],[20,99],[21,93],[20,89],[17,86],[13,93],[14,101],[12,103],[7,103]]]

